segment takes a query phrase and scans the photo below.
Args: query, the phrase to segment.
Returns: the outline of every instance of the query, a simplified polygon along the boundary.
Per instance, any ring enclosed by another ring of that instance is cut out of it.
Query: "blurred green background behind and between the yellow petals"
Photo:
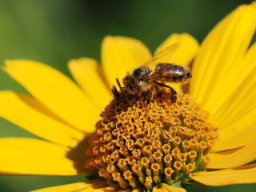
[[[0,0],[0,61],[27,58],[70,76],[70,58],[100,60],[106,34],[140,39],[154,50],[171,33],[188,32],[199,42],[242,0]],[[47,77],[46,77],[47,78]],[[0,90],[25,92],[0,71]],[[0,106],[1,107],[1,106]],[[34,135],[0,118],[0,137]],[[1,151],[0,151],[1,153]],[[43,165],[42,165],[43,166]],[[79,176],[0,176],[0,191],[24,192],[83,181]],[[189,191],[256,191],[256,185],[190,187]]]

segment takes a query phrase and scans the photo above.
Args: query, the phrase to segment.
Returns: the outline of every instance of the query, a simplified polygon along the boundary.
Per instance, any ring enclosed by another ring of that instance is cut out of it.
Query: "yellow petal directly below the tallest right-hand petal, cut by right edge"
[[[242,66],[246,66],[242,70],[242,74],[246,74],[247,78],[235,90],[234,94],[216,110],[216,113],[212,111],[214,115],[210,117],[210,121],[218,125],[219,130],[228,128],[230,124],[244,117],[256,107],[256,102],[254,102],[256,100],[256,90],[254,89],[256,86],[255,55],[256,43],[247,51],[246,57],[242,62]],[[240,78],[237,78],[235,83],[239,81]]]

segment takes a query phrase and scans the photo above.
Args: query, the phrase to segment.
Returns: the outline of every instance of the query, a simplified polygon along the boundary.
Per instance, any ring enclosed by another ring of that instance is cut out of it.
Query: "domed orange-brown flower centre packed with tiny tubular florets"
[[[179,93],[173,103],[159,90],[153,99],[131,102],[106,106],[90,138],[87,167],[122,189],[149,191],[161,182],[180,186],[190,173],[205,169],[217,129],[189,94]]]

